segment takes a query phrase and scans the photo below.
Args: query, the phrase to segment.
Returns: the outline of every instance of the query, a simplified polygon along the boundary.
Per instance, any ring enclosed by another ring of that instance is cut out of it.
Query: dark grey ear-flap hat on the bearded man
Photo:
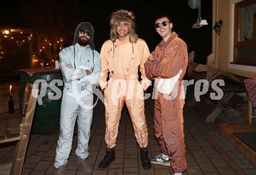
[[[90,42],[88,43],[88,45],[90,45],[91,49],[94,50],[95,49],[94,48],[94,28],[93,28],[93,25],[91,25],[91,23],[87,23],[87,22],[82,22],[77,25],[76,31],[74,32],[73,45],[75,45],[78,42],[80,30],[86,30],[91,32]]]

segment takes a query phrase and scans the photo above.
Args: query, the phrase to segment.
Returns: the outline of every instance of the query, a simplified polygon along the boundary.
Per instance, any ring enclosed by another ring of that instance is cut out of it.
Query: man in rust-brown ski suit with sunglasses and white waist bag
[[[186,43],[172,32],[169,17],[161,16],[155,21],[155,30],[162,37],[154,52],[145,63],[148,79],[159,78],[158,98],[154,108],[154,132],[162,154],[151,163],[172,166],[175,175],[186,170],[183,133],[184,96],[182,79],[186,73],[188,56]]]

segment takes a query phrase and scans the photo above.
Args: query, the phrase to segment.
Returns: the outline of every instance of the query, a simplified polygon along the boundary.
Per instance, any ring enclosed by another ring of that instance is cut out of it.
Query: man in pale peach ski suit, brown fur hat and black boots
[[[105,142],[106,155],[99,163],[100,168],[108,167],[115,160],[116,138],[125,101],[133,122],[134,134],[140,146],[141,162],[144,169],[150,169],[148,158],[148,130],[144,114],[144,90],[150,85],[145,77],[144,63],[150,52],[147,43],[138,38],[135,31],[133,12],[117,10],[111,16],[110,39],[101,48],[101,76],[99,85],[105,100]],[[140,66],[141,83],[138,82]],[[109,82],[106,79],[109,72]]]

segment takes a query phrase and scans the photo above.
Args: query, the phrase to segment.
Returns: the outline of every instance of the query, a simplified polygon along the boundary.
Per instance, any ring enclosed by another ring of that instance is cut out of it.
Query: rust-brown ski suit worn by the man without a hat
[[[167,95],[158,92],[154,108],[154,131],[161,145],[161,152],[169,156],[173,170],[182,173],[186,170],[187,164],[183,132],[184,97],[180,98],[180,93],[188,63],[187,45],[175,32],[172,32],[168,41],[162,40],[157,45],[150,55],[150,60],[145,62],[145,74],[148,79],[172,78],[182,70],[175,86],[176,98],[170,98],[175,88]]]

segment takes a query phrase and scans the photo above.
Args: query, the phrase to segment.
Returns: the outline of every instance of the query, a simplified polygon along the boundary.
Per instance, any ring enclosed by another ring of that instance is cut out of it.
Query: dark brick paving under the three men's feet
[[[186,141],[188,175],[248,174],[255,175],[256,167],[251,165],[243,155],[219,135],[218,122],[205,123],[209,107],[197,104],[195,107],[184,107],[184,132]],[[150,156],[159,154],[159,145],[153,130],[154,101],[145,100],[145,114],[149,131]],[[98,163],[105,155],[105,119],[104,107],[98,103],[94,108],[93,125],[90,140],[90,161],[92,173],[83,173],[76,163],[74,150],[77,144],[77,132],[74,133],[72,151],[70,152],[67,174],[174,174],[170,167],[153,165],[144,170],[140,161],[140,150],[136,143],[133,127],[126,110],[122,112],[119,135],[116,144],[116,160],[107,169],[98,169]],[[58,134],[32,134],[27,149],[22,174],[55,174],[53,166]],[[15,144],[0,145],[0,164],[11,162]],[[1,172],[0,172],[1,174]]]

